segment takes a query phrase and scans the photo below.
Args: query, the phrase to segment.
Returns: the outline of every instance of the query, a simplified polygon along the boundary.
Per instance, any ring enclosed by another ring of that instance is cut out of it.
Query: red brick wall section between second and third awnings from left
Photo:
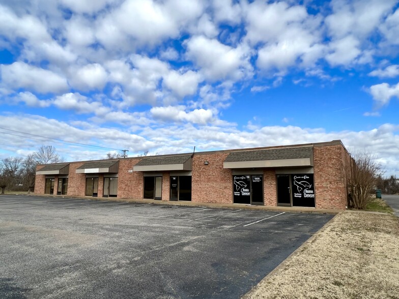
[[[129,172],[142,158],[119,160],[118,197],[143,199],[143,172]]]

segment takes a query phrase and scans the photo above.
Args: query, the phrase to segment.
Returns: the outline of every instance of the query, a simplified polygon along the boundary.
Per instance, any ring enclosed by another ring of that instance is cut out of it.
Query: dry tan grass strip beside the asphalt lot
[[[337,215],[244,298],[399,298],[399,218]]]

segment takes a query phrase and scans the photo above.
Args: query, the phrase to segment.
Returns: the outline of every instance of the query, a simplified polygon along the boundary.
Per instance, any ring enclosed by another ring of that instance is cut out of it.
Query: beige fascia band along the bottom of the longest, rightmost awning
[[[239,161],[223,162],[223,168],[274,168],[274,167],[298,167],[313,166],[310,158],[279,159],[263,161]]]

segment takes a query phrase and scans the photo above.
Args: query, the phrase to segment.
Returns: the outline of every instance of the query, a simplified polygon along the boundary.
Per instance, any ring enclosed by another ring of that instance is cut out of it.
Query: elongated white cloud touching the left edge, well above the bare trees
[[[11,88],[25,88],[39,93],[59,93],[68,89],[67,80],[52,71],[23,62],[1,65],[2,84]]]

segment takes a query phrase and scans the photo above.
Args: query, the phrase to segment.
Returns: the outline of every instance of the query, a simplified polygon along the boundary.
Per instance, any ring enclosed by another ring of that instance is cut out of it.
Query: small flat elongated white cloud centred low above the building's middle
[[[206,125],[212,121],[211,110],[195,109],[186,112],[184,109],[184,106],[153,107],[150,112],[154,118],[164,122],[189,122]]]

